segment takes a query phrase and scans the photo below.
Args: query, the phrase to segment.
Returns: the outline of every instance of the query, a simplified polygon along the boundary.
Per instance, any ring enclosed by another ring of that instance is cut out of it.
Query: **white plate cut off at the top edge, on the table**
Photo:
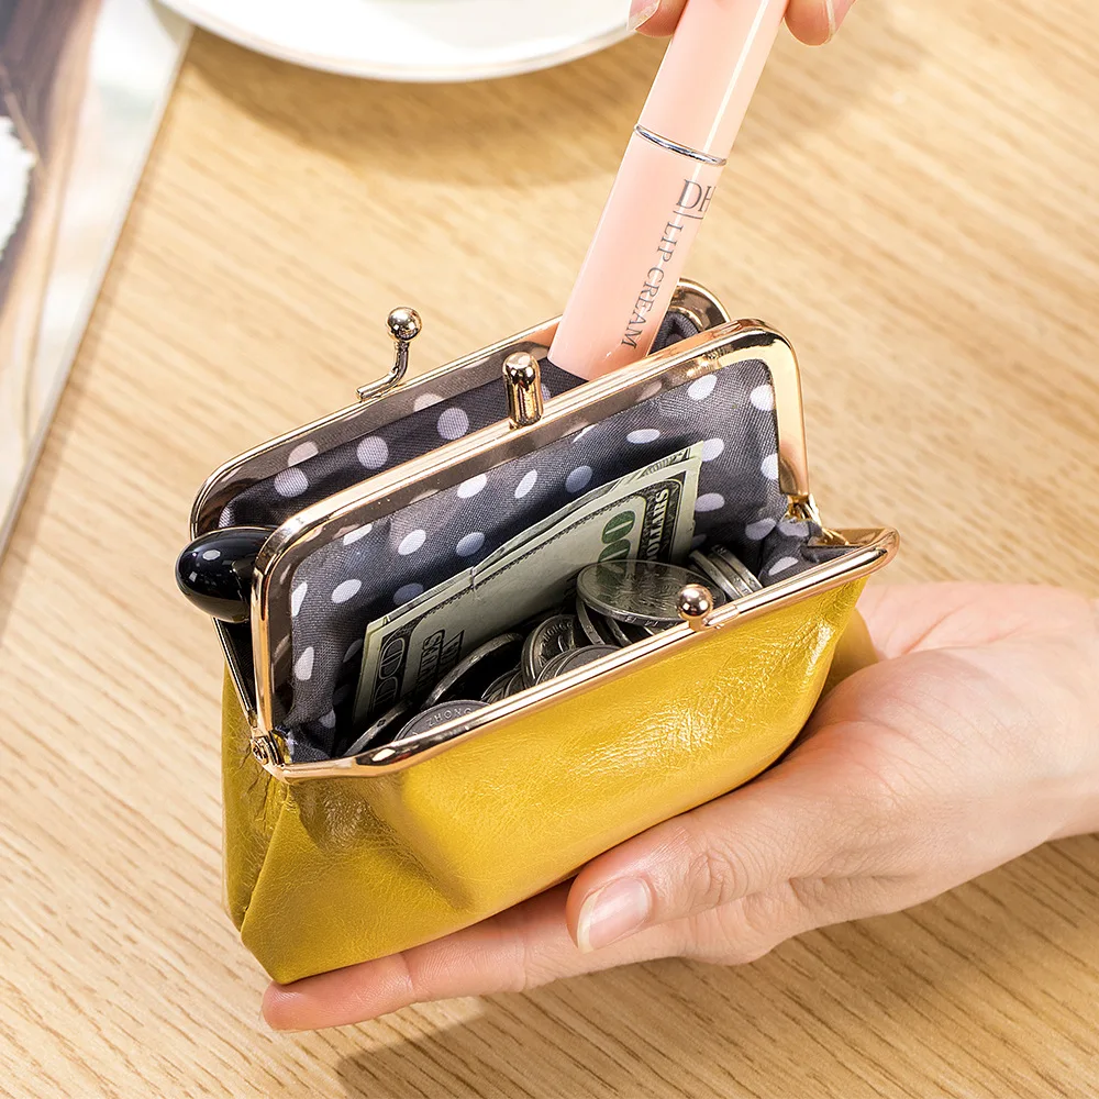
[[[478,80],[546,68],[626,34],[629,0],[164,0],[285,60],[380,80]]]

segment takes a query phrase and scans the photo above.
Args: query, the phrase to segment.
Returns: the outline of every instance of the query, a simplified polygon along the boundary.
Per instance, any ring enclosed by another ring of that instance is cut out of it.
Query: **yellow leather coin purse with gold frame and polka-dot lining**
[[[822,524],[786,340],[684,282],[657,351],[581,382],[545,362],[554,325],[409,380],[419,319],[397,311],[387,378],[222,466],[195,503],[179,579],[227,662],[229,909],[276,980],[456,931],[748,781],[830,671],[873,659],[855,603],[897,535]],[[559,609],[554,517],[603,514],[598,493],[642,468],[640,533],[601,519],[599,556],[720,545],[751,584],[703,575],[678,624],[623,622],[555,676],[509,678],[517,648],[475,701],[417,718],[409,700],[460,679],[493,623]],[[496,568],[532,530],[537,569]],[[477,608],[460,629],[459,606]]]

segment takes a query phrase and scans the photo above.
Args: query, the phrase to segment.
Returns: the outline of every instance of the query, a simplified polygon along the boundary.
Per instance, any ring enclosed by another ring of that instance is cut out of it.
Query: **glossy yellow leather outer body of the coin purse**
[[[408,768],[286,786],[225,687],[229,906],[279,981],[485,919],[748,781],[798,735],[862,581],[699,635]],[[848,670],[873,659],[847,660]]]

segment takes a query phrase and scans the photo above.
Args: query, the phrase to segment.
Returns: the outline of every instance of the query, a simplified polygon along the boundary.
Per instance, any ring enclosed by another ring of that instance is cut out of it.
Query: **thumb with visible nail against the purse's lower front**
[[[752,785],[589,863],[566,906],[577,946],[600,950],[645,928],[819,875],[847,846],[836,834],[847,814],[836,811],[828,784],[807,763],[804,753],[793,755]]]

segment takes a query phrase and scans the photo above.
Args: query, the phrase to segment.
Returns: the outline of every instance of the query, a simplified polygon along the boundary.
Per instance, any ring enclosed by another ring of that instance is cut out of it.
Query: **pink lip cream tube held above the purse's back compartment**
[[[648,354],[788,0],[688,0],[550,362],[598,378]]]

